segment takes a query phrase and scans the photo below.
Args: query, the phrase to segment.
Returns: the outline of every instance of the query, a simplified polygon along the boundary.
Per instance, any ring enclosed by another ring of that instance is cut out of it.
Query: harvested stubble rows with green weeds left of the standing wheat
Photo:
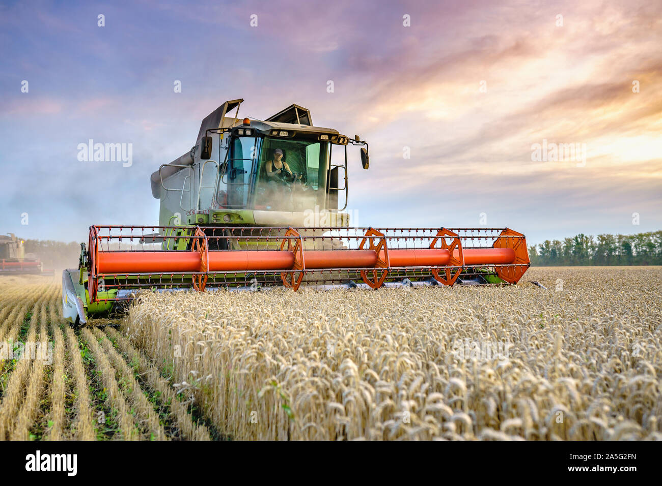
[[[91,325],[63,321],[56,278],[0,276],[0,440],[212,438],[140,351],[113,326]],[[28,343],[52,347],[17,351]]]

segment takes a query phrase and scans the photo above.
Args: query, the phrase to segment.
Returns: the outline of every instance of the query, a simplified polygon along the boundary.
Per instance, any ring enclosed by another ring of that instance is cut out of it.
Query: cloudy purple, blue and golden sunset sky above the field
[[[357,225],[655,231],[660,46],[659,0],[3,0],[0,233],[157,224],[150,174],[238,98],[369,143],[367,171],[349,149]],[[90,139],[131,143],[132,164],[79,161]]]

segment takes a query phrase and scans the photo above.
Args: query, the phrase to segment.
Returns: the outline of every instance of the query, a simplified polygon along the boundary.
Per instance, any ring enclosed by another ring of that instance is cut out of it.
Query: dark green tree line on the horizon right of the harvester
[[[662,265],[662,231],[634,235],[585,235],[531,245],[532,266]]]

